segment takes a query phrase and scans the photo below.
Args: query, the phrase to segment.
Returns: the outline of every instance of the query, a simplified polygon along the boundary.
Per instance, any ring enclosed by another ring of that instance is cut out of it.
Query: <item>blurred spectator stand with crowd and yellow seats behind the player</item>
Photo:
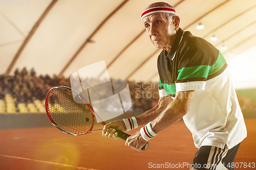
[[[89,80],[88,83],[96,81]],[[35,70],[24,67],[15,70],[14,75],[0,75],[0,114],[45,113],[45,96],[54,86],[70,87],[70,79],[53,75],[36,76]],[[130,111],[143,112],[158,102],[158,83],[128,81],[132,108]],[[255,116],[256,101],[238,95],[244,115]]]

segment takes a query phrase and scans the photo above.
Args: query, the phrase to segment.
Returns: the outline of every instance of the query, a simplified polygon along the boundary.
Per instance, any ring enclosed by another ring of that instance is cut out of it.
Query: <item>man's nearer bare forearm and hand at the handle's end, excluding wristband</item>
[[[179,119],[187,114],[189,110],[190,100],[193,98],[194,90],[180,91],[176,93],[176,97],[152,122],[152,130],[155,133],[168,128],[175,124]],[[140,131],[135,132],[132,136],[128,137],[125,145],[141,151],[141,148],[146,144],[146,140],[140,134]]]

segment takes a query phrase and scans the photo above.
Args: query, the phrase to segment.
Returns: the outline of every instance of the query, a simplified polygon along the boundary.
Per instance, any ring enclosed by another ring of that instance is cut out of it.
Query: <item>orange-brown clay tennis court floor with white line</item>
[[[256,162],[256,119],[245,119],[245,123],[247,138],[241,143],[235,162],[252,165]],[[141,170],[154,169],[153,166],[166,162],[169,167],[184,164],[184,168],[173,169],[188,169],[197,152],[182,120],[151,139],[150,148],[144,152],[131,150],[123,140],[105,138],[101,133],[71,136],[54,127],[5,129],[0,130],[0,136],[0,169]]]

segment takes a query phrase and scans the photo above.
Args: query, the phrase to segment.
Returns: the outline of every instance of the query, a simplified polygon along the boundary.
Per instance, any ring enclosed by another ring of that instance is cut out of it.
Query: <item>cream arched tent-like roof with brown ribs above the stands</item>
[[[34,67],[38,75],[69,77],[79,68],[104,60],[111,78],[158,81],[157,57],[161,49],[151,43],[140,18],[154,2],[2,1],[0,74],[11,75],[16,68]],[[174,6],[184,31],[205,38],[226,59],[256,45],[255,0],[165,2]],[[197,29],[198,25],[204,29]],[[212,41],[212,36],[217,40]]]

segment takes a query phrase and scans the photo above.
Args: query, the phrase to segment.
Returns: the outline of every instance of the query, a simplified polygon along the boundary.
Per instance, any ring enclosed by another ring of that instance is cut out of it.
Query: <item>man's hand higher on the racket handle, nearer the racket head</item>
[[[114,122],[106,124],[102,130],[102,136],[117,139],[118,137],[116,129],[120,131],[126,131],[123,120],[116,120]]]

